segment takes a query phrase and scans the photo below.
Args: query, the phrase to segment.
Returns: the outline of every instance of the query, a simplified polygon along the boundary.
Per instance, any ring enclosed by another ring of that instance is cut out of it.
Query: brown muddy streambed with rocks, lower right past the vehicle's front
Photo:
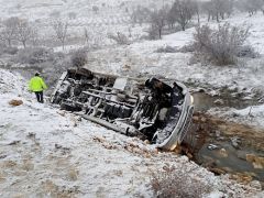
[[[217,175],[257,179],[264,187],[264,129],[195,113],[180,152]]]

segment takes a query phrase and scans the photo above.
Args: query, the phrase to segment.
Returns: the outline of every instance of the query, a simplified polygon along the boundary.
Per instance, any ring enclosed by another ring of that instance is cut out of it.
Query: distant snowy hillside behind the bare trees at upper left
[[[144,35],[142,26],[131,23],[133,10],[138,6],[156,7],[161,3],[162,0],[0,0],[0,20],[10,16],[26,19],[38,30],[38,38],[43,41],[54,41],[52,24],[56,20],[63,20],[68,23],[67,37],[82,38],[79,44],[84,45],[86,29],[89,42],[95,40],[97,44],[105,45],[113,43],[108,40],[109,33],[122,32],[131,35],[133,40]],[[92,10],[94,7],[98,8],[97,12]]]

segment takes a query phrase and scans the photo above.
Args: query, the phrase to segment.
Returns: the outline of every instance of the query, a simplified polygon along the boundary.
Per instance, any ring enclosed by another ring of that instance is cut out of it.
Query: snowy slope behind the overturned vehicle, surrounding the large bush
[[[246,14],[239,14],[226,21],[233,25],[246,23],[251,26],[251,35],[246,43],[251,44],[261,57],[244,58],[239,62],[238,66],[215,66],[194,62],[193,54],[188,52],[156,53],[156,50],[161,47],[172,46],[180,50],[190,44],[195,32],[195,28],[191,28],[185,32],[166,35],[161,41],[144,41],[129,46],[94,52],[89,54],[90,62],[87,67],[95,70],[101,70],[105,67],[103,69],[120,74],[124,66],[129,66],[130,75],[148,73],[215,88],[238,88],[239,91],[248,92],[257,89],[264,92],[263,15],[260,13],[249,18]],[[216,23],[210,24],[216,25]]]

